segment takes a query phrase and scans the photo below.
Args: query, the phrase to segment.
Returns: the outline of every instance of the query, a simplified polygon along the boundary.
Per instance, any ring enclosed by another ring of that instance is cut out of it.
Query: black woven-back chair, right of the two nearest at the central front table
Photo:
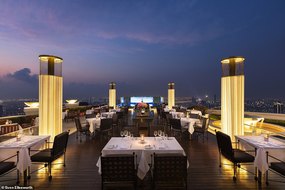
[[[187,189],[187,154],[156,154],[152,161],[153,189]]]

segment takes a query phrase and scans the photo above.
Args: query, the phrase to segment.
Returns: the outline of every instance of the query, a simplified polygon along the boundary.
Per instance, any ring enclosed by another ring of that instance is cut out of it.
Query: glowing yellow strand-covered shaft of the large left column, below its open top
[[[62,133],[62,77],[39,75],[39,135]]]

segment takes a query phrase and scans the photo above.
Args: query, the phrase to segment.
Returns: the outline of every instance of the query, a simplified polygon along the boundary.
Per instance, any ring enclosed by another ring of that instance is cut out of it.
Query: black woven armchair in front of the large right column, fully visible
[[[238,149],[233,149],[232,142],[230,140],[230,136],[228,136],[225,133],[222,133],[220,131],[216,131],[216,137],[217,137],[217,143],[218,143],[218,149],[220,153],[220,167],[222,167],[221,163],[221,155],[225,157],[226,159],[230,160],[233,162],[233,180],[236,180],[236,168],[241,165],[249,165],[249,164],[240,164],[240,163],[252,163],[254,162],[254,156],[250,155],[247,152],[255,152],[256,155],[256,148],[255,150],[249,150],[249,151],[242,151],[239,149],[239,140],[238,142],[233,142],[238,144]],[[223,165],[231,165],[231,164],[223,164]],[[244,168],[241,168],[244,169]],[[246,170],[246,169],[244,169]],[[255,167],[255,174],[246,170],[249,173],[254,174],[254,179],[257,181],[257,176],[256,176],[256,167]]]

